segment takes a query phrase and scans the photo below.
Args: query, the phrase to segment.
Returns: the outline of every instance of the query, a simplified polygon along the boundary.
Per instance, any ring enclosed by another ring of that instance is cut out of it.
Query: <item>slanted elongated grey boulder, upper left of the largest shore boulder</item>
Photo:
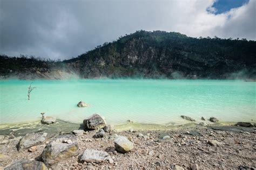
[[[46,139],[47,133],[28,133],[19,140],[18,150],[21,151],[31,146],[42,144]]]

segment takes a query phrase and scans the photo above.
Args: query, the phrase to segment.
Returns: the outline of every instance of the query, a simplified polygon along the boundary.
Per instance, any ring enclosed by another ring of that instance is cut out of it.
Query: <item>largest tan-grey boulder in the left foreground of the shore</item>
[[[62,134],[50,141],[41,155],[44,164],[51,166],[60,160],[78,154],[77,137],[73,134]]]

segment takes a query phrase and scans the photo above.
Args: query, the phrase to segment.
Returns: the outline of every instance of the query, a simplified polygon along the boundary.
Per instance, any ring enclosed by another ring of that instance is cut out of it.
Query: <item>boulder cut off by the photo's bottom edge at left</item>
[[[46,170],[48,169],[44,162],[36,161],[36,160],[27,160],[20,159],[15,161],[12,164],[9,164],[4,168],[4,170]]]

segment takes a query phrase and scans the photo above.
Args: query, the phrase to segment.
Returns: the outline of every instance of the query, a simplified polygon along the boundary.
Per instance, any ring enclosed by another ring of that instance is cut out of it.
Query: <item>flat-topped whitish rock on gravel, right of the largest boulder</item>
[[[86,162],[99,163],[107,160],[111,162],[112,158],[110,157],[110,155],[105,151],[98,151],[98,150],[86,149],[83,155],[80,157],[80,161],[86,161]]]

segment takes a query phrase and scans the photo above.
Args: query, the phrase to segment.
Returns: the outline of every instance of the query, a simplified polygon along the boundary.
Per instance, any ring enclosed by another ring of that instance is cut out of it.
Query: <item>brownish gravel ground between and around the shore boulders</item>
[[[250,131],[250,132],[248,132]],[[220,131],[197,126],[179,130],[134,130],[105,133],[104,138],[93,138],[96,131],[84,132],[78,136],[79,154],[50,167],[51,169],[239,169],[256,167],[255,129],[248,131]],[[142,134],[139,134],[142,133]],[[128,153],[114,151],[115,135],[123,135],[134,142]],[[161,139],[163,136],[170,136]],[[16,144],[20,137],[10,139],[10,143],[0,145],[0,153],[8,159],[0,162],[0,169],[18,159],[38,158],[46,144],[38,145],[35,152],[18,152]],[[48,139],[50,140],[50,139]],[[209,140],[219,141],[218,146]],[[113,163],[79,162],[79,155],[86,148],[109,152]]]

